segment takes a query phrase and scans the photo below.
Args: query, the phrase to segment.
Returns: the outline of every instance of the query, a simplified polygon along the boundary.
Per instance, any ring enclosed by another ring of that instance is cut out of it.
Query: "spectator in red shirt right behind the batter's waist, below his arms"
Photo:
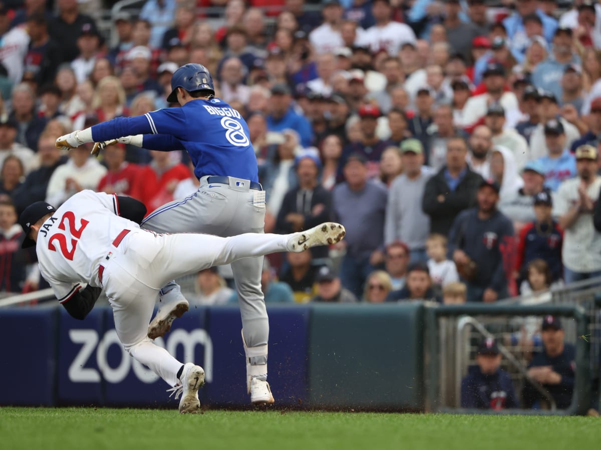
[[[139,170],[131,188],[133,198],[146,206],[148,213],[173,200],[173,191],[178,181],[190,176],[182,163],[176,163],[169,152],[151,151],[152,161]]]

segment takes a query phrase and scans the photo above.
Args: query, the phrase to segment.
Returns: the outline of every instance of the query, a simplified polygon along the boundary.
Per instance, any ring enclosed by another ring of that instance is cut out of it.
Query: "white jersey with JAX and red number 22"
[[[138,224],[119,217],[117,196],[84,190],[75,194],[46,220],[38,233],[36,253],[42,276],[61,303],[82,283],[100,287],[98,266],[114,250],[123,230]]]

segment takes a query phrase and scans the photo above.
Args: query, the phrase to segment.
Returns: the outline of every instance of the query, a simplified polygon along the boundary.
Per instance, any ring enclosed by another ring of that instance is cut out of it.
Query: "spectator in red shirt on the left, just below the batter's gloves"
[[[140,167],[137,164],[127,163],[125,147],[121,144],[109,145],[103,152],[103,156],[108,172],[100,179],[96,190],[107,194],[129,196]]]

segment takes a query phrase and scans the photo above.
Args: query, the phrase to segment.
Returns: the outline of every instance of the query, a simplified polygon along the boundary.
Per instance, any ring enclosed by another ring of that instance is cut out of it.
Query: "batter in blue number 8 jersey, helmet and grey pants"
[[[156,209],[144,219],[142,227],[158,233],[195,232],[223,237],[263,233],[265,193],[258,183],[257,159],[245,120],[215,98],[213,79],[203,65],[178,68],[171,88],[167,100],[181,107],[115,118],[73,131],[59,137],[56,146],[71,149],[96,142],[93,154],[115,142],[160,151],[185,149],[200,179],[198,191]],[[269,323],[261,292],[262,266],[262,256],[232,263],[242,315],[247,388],[254,404],[274,401],[267,383]],[[164,335],[175,317],[188,311],[188,301],[174,282],[163,287],[161,294],[159,311],[148,328],[151,338]]]

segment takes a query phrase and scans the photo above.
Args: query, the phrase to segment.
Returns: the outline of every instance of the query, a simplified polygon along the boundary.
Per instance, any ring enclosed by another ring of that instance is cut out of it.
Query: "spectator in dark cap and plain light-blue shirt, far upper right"
[[[562,97],[561,77],[566,66],[580,64],[580,58],[573,51],[573,34],[570,28],[558,28],[553,38],[552,55],[538,64],[532,73],[532,84],[537,88],[553,92],[555,97]]]

